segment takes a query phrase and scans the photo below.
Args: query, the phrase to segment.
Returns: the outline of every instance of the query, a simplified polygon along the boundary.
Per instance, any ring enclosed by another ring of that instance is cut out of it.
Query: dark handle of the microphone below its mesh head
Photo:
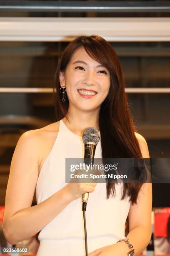
[[[96,143],[85,143],[84,163],[93,164],[95,157]],[[88,202],[89,193],[82,194],[82,202]]]

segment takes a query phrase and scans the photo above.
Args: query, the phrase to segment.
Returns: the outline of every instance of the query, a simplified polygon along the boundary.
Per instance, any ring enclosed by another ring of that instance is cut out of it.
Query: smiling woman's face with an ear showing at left
[[[60,72],[60,85],[66,87],[69,108],[74,105],[81,110],[94,110],[108,95],[110,73],[81,47],[72,55],[65,74]],[[95,95],[87,95],[94,92]]]

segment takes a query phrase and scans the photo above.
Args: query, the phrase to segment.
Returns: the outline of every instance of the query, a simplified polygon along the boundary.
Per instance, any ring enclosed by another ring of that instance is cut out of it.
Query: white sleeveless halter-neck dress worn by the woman
[[[60,120],[57,138],[37,180],[37,204],[66,185],[65,158],[84,158],[84,143],[82,137],[72,133]],[[102,158],[100,141],[95,158]],[[130,202],[129,197],[120,200],[122,185],[115,184],[116,196],[109,200],[106,199],[105,183],[97,183],[94,192],[89,193],[86,210],[88,253],[125,238],[125,221]],[[38,238],[40,247],[37,256],[85,256],[81,198],[72,201],[42,228]]]

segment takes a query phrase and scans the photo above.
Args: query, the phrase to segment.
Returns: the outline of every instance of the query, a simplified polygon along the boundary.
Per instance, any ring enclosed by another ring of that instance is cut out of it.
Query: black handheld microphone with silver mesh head
[[[82,141],[85,147],[84,163],[93,164],[95,157],[95,149],[100,141],[100,133],[93,127],[88,127],[82,134]],[[82,202],[88,202],[89,193],[82,194]],[[86,205],[86,204],[83,204]]]

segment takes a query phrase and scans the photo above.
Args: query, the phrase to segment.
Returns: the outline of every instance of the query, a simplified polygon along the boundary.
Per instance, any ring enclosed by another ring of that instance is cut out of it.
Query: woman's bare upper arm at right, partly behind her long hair
[[[136,134],[143,158],[150,158],[148,145],[143,136]],[[137,204],[130,204],[128,214],[129,230],[138,225],[147,227],[151,232],[152,183],[144,183],[138,194]]]

